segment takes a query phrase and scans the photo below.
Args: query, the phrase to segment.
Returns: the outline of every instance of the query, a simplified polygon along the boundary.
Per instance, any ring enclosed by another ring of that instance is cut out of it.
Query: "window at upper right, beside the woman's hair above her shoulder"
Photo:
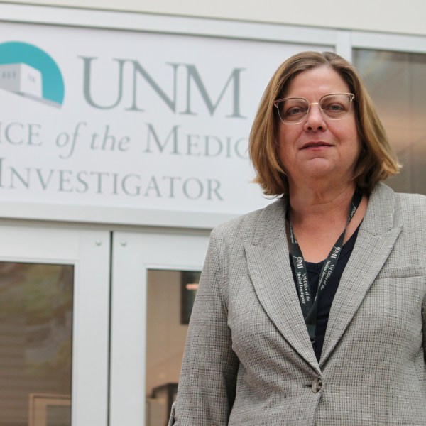
[[[404,166],[386,183],[398,192],[426,194],[426,55],[355,49],[354,65]]]

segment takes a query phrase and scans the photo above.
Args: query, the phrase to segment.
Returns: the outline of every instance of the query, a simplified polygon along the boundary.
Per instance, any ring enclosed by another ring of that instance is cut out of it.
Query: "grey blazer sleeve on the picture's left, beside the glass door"
[[[221,261],[219,253],[217,236],[213,231],[192,309],[178,397],[169,425],[228,424],[239,360],[232,350],[231,330],[227,324],[224,295],[228,276],[227,256],[222,249],[224,260]]]

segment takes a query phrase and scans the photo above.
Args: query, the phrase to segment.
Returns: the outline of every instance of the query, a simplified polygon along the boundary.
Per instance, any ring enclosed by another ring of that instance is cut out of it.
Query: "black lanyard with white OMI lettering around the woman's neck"
[[[343,247],[346,228],[348,227],[349,222],[351,222],[352,217],[354,217],[354,214],[356,212],[356,209],[359,207],[361,199],[361,190],[356,190],[349,206],[346,226],[344,227],[342,234],[337,239],[336,243],[332,247],[332,250],[329,252],[329,255],[325,259],[324,265],[322,266],[320,279],[318,280],[317,294],[315,295],[315,300],[313,302],[310,293],[309,281],[307,279],[305,259],[303,258],[300,246],[299,244],[297,244],[297,240],[295,239],[295,234],[293,232],[293,226],[291,226],[290,218],[287,216],[288,227],[290,229],[290,248],[293,258],[293,266],[295,268],[297,293],[299,295],[299,301],[300,306],[302,307],[303,317],[305,318],[307,332],[309,333],[309,337],[311,339],[312,344],[315,344],[315,327],[317,325],[318,299],[321,293],[324,291],[325,286],[329,282],[329,279],[334,271],[334,267],[337,265],[337,261],[339,260],[339,256]]]

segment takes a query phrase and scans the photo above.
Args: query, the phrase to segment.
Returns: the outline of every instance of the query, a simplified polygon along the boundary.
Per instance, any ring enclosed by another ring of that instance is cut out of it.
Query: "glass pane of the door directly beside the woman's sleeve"
[[[176,398],[198,271],[148,271],[146,425],[167,425]]]

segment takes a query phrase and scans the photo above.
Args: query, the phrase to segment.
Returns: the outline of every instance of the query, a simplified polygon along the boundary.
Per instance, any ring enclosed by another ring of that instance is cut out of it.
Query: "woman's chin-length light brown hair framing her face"
[[[355,67],[336,53],[302,52],[288,58],[275,71],[251,127],[249,153],[257,173],[254,182],[261,185],[265,195],[288,194],[288,178],[278,158],[276,136],[280,118],[273,102],[285,96],[296,75],[323,66],[336,71],[355,95],[356,127],[363,148],[354,173],[356,184],[371,192],[376,183],[395,175],[400,169],[383,124]]]

